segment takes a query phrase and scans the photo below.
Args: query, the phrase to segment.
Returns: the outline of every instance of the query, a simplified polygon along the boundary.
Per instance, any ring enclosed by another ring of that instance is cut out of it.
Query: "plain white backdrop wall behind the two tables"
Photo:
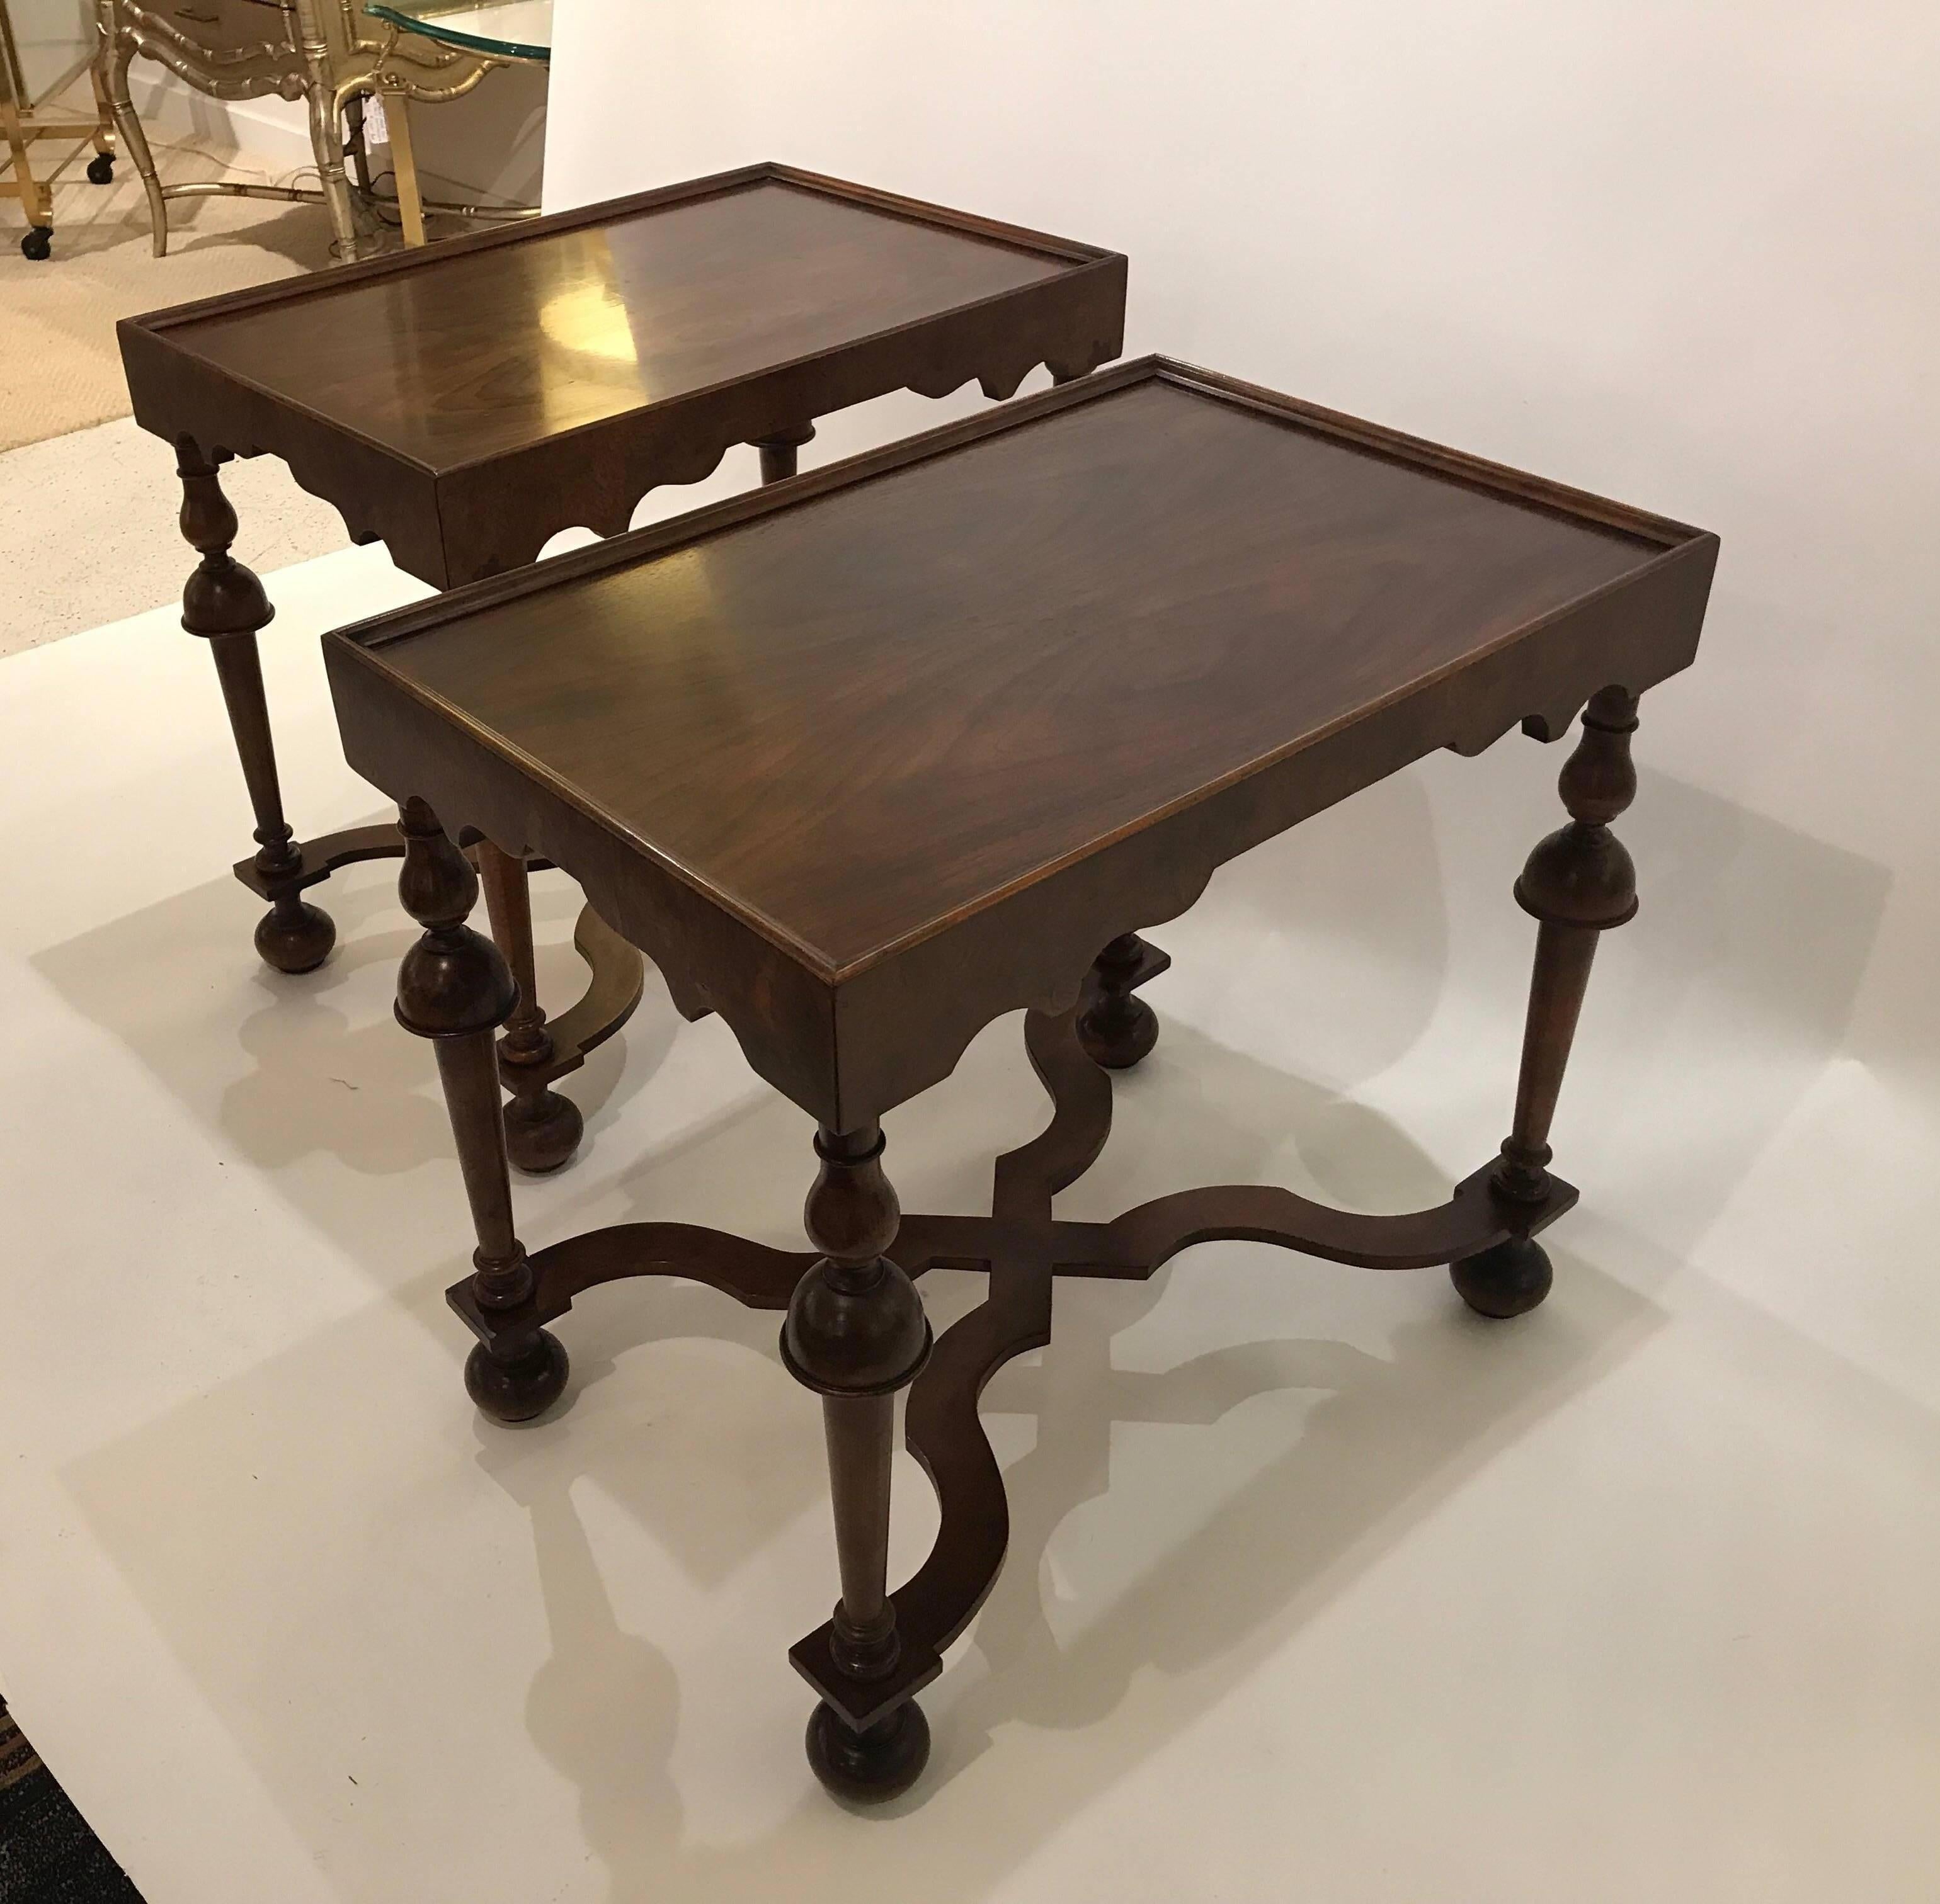
[[[561,33],[553,206],[776,157],[1112,244],[1133,353],[1717,529],[1705,651],[1645,706],[1635,933],[1744,995],[1748,1049],[1932,1076],[1930,6],[731,0]],[[1408,824],[1533,840],[1560,754],[1505,748],[1418,770]],[[1315,911],[1362,884],[1342,861]]]

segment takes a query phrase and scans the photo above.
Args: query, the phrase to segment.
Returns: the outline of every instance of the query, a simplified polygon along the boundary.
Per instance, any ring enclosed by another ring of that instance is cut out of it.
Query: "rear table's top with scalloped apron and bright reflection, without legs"
[[[978,376],[1009,396],[1040,361],[1081,374],[1117,353],[1123,266],[757,165],[130,318],[120,335],[146,428],[285,456],[353,531],[427,574],[400,549],[466,545],[481,508],[512,516],[530,560],[574,522],[625,527],[648,487],[706,475],[735,442],[887,390]],[[617,440],[646,448],[607,471]],[[400,531],[392,491],[427,520]],[[427,578],[514,566],[491,553]]]

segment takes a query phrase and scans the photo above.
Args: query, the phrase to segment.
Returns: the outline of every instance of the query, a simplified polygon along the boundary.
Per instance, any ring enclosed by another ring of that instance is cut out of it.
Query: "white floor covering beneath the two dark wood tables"
[[[312,636],[411,586],[345,551],[274,591],[291,810],[376,814]],[[1651,772],[1645,727],[1554,1299],[1488,1326],[1438,1272],[1244,1245],[1063,1289],[987,1394],[1015,1539],[925,1698],[929,1776],[856,1817],[784,1660],[834,1565],[774,1318],[598,1291],[570,1406],[481,1427],[392,869],[332,882],[324,971],[256,966],[173,611],[16,655],[0,710],[0,1679],[149,1904],[1934,1898],[1940,1117],[1843,1045],[1878,867]],[[1067,1208],[1249,1177],[1403,1208],[1486,1158],[1560,758],[1436,758],[1156,931],[1164,1041]],[[570,911],[549,880],[553,997]],[[978,1208],[1036,1128],[1015,1047],[890,1119],[906,1206]],[[807,1125],[718,1022],[650,989],[574,1088],[588,1150],[520,1189],[530,1243],[795,1239]]]

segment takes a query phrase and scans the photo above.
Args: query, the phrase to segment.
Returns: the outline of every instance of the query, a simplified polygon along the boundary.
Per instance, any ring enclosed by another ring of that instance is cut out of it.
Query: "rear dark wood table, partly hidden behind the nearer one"
[[[258,952],[320,966],[336,927],[303,894],[404,843],[392,826],[299,841],[283,818],[256,653],[274,611],[229,553],[223,461],[283,458],[353,541],[450,587],[535,560],[566,527],[615,535],[650,489],[698,481],[741,442],[782,481],[817,417],[867,397],[970,378],[1007,397],[1040,363],[1083,376],[1119,353],[1123,314],[1114,252],[755,165],[124,320],[134,415],[175,444],[202,555],[182,626],[210,642],[256,812],[235,871],[270,902]],[[485,853],[522,985],[501,1047],[512,1156],[557,1169],[580,1113],[551,1086],[625,1022],[640,958],[582,915],[594,981],[549,1024],[526,867]]]

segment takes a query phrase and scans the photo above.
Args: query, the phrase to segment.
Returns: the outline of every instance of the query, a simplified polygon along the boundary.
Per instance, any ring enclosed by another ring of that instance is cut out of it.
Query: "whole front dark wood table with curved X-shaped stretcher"
[[[1550,1173],[1550,1117],[1597,938],[1635,911],[1610,822],[1637,696],[1690,663],[1715,556],[1698,529],[1145,361],[326,640],[349,760],[404,803],[400,892],[425,931],[398,1016],[436,1043],[477,1227],[450,1291],[479,1338],[469,1392],[506,1421],[547,1408],[566,1380],[547,1324],[617,1278],[788,1313],[782,1355],[824,1398],[842,1574],[792,1658],[834,1790],[881,1797],[922,1768],[912,1695],[1005,1549],[978,1394],[1050,1338],[1053,1278],[1145,1278],[1245,1237],[1449,1264],[1488,1317],[1548,1293],[1535,1237],[1577,1194]],[[1579,710],[1569,822],[1515,888],[1538,925],[1500,1156],[1406,1216],[1261,1185],[1051,1216],[1104,1146],[1102,1066],[1156,1035],[1141,927],[1434,748],[1517,721],[1556,739]],[[526,1253],[491,1064],[516,987],[466,927],[473,836],[566,867],[679,1010],[718,1010],[815,1119],[811,1251],[623,1223]],[[989,1216],[900,1214],[883,1115],[1018,1008],[1050,1125],[997,1159]],[[912,1278],[945,1264],[987,1268],[989,1297],[931,1346]],[[889,1594],[904,1386],[943,1518]]]

